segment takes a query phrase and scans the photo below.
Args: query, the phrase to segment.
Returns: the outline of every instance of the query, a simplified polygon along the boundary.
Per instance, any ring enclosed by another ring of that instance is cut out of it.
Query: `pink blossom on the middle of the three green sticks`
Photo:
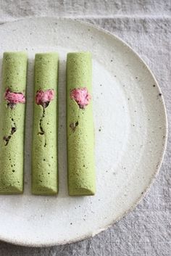
[[[51,102],[54,99],[54,90],[46,90],[42,91],[39,90],[36,93],[36,104],[42,105],[42,107],[47,107],[49,105],[49,102]]]

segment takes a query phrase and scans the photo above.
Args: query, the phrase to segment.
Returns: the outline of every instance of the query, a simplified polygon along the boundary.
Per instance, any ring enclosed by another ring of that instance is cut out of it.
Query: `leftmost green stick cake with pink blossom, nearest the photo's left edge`
[[[24,52],[4,52],[0,110],[0,194],[23,192],[27,63],[28,57]]]

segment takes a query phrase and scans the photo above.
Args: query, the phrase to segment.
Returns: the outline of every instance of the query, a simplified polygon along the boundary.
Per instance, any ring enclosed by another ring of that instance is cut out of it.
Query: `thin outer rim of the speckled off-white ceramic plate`
[[[105,33],[107,36],[110,36],[112,39],[120,41],[122,43],[123,46],[126,46],[128,49],[130,49],[130,51],[132,51],[133,54],[135,54],[136,57],[138,57],[138,59],[143,63],[143,65],[145,66],[146,70],[149,71],[150,75],[152,76],[152,78],[154,79],[157,89],[159,90],[159,92],[162,94],[162,90],[159,86],[159,83],[157,81],[157,79],[154,76],[154,73],[151,71],[149,65],[146,64],[146,62],[142,59],[142,57],[138,54],[137,51],[135,51],[127,42],[125,42],[122,38],[120,38],[120,36],[116,36],[114,33],[109,32],[109,30],[106,30],[104,28],[101,28],[99,25],[94,25],[91,22],[88,22],[86,20],[83,20],[83,18],[72,18],[72,17],[55,17],[55,16],[43,16],[43,17],[25,17],[25,18],[19,18],[17,20],[10,20],[10,21],[5,21],[5,22],[0,22],[0,25],[6,25],[6,24],[10,24],[10,23],[14,23],[14,22],[22,22],[25,20],[55,20],[57,22],[57,20],[70,20],[71,22],[76,22],[76,23],[81,23],[82,25],[86,25],[88,28],[94,28],[96,30],[98,30],[101,33]],[[145,197],[146,193],[149,191],[149,189],[151,188],[151,186],[153,185],[155,179],[157,178],[157,175],[159,174],[159,170],[162,166],[162,162],[164,160],[164,154],[166,152],[167,149],[167,139],[168,139],[168,120],[167,120],[167,109],[166,109],[166,104],[164,102],[164,97],[163,94],[161,96],[161,104],[164,110],[164,146],[161,149],[161,157],[159,158],[159,165],[157,165],[157,167],[154,170],[153,175],[151,176],[151,179],[149,181],[148,186],[146,186],[146,189],[144,189],[143,194],[140,195],[140,197],[138,197],[138,199],[134,202],[134,204],[125,212],[122,213],[122,215],[120,215],[120,217],[118,217],[117,219],[112,220],[112,222],[110,222],[109,224],[107,224],[106,226],[104,226],[104,228],[99,228],[96,232],[94,233],[88,233],[86,235],[80,236],[79,238],[76,239],[72,239],[70,241],[60,241],[60,242],[47,242],[46,244],[41,244],[41,242],[33,242],[33,241],[21,241],[20,239],[9,239],[9,238],[4,238],[1,236],[0,234],[0,241],[4,241],[7,242],[9,244],[15,244],[15,245],[20,245],[22,247],[51,247],[51,246],[59,246],[59,245],[64,245],[64,244],[72,244],[75,243],[77,241],[83,241],[84,239],[88,239],[88,238],[92,238],[93,236],[96,236],[97,234],[101,233],[102,231],[106,231],[108,228],[112,227],[114,225],[114,223],[117,223],[119,220],[121,220],[122,218],[124,218],[126,215],[128,215],[130,212],[132,212],[135,207],[141,202],[141,199],[143,199],[143,197]]]

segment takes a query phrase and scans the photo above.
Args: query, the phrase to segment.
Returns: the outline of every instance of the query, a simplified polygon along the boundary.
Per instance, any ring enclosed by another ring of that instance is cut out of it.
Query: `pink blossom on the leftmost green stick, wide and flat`
[[[4,99],[9,104],[25,103],[25,96],[22,93],[12,92],[9,88],[4,93]]]

